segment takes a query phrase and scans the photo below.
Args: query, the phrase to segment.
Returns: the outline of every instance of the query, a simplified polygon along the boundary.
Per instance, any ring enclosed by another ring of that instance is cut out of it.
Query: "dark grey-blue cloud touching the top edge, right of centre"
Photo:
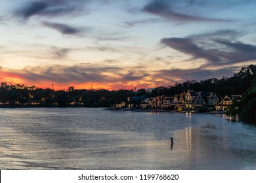
[[[185,4],[185,5],[183,5]],[[214,18],[205,18],[201,16],[193,15],[196,12],[190,12],[190,14],[186,14],[184,12],[188,12],[191,10],[193,1],[160,1],[155,0],[151,1],[148,5],[146,5],[142,11],[149,12],[151,14],[156,14],[167,20],[171,21],[179,21],[179,22],[188,22],[188,21],[226,21],[221,19]],[[194,5],[194,7],[198,8],[198,5]],[[189,8],[188,8],[189,7]],[[197,12],[198,14],[198,12]]]

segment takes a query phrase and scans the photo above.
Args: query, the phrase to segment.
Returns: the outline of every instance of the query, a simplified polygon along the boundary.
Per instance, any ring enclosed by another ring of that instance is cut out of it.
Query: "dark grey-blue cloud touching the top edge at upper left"
[[[41,0],[30,1],[23,7],[16,10],[15,14],[24,19],[32,16],[61,16],[71,13],[81,12],[87,1],[76,0]]]

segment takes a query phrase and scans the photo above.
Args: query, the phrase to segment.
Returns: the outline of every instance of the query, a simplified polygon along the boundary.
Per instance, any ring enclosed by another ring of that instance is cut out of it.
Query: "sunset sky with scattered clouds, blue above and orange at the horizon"
[[[256,64],[256,1],[0,0],[0,82],[134,90]]]

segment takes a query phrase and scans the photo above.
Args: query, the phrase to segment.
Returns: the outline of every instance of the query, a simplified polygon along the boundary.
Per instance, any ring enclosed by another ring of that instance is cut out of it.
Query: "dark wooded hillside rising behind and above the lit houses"
[[[256,78],[256,65],[249,65],[249,67],[243,67],[234,76],[228,78],[223,76],[221,79],[209,78],[201,80],[188,80],[183,83],[176,83],[169,87],[155,88],[151,96],[159,95],[175,95],[177,93],[186,92],[189,90],[194,91],[209,91],[215,92],[220,98],[225,95],[242,95],[248,88],[252,86],[253,79]]]

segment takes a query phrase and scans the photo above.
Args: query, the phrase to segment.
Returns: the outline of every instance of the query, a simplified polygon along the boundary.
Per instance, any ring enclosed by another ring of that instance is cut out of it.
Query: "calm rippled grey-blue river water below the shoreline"
[[[0,169],[256,169],[256,126],[217,114],[1,108]]]

